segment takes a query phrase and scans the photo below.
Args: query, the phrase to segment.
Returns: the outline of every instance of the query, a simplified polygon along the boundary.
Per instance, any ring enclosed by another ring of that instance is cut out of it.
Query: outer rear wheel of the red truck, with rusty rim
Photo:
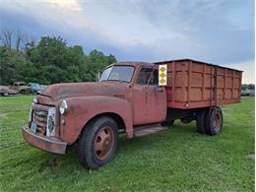
[[[206,133],[208,135],[219,135],[223,129],[224,116],[221,107],[214,107],[209,110],[205,118]]]

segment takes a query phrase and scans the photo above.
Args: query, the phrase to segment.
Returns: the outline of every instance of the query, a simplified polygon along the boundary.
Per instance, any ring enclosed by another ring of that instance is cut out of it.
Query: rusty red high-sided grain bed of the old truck
[[[167,65],[167,107],[198,108],[240,101],[242,71],[191,59]]]

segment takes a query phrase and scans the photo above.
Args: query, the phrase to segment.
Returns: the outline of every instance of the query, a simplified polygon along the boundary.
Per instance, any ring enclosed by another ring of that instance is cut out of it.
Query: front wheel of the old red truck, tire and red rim
[[[97,169],[114,158],[117,146],[116,122],[107,116],[96,118],[85,127],[79,139],[79,160],[85,167]]]

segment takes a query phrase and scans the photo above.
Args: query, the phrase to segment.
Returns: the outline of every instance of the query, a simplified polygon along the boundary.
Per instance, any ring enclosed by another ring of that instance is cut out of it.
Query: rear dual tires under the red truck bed
[[[207,135],[219,135],[222,132],[224,116],[221,107],[203,108],[197,112],[197,130]]]

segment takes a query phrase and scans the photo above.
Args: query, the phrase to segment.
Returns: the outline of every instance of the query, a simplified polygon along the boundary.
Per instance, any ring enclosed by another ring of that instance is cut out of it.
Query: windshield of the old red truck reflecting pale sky
[[[132,66],[112,66],[105,69],[100,76],[99,82],[103,81],[117,81],[117,82],[131,82],[134,72]]]

